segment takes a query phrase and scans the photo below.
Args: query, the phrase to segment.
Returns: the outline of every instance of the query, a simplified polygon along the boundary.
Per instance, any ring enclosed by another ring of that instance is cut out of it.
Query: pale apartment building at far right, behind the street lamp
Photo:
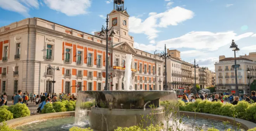
[[[247,69],[251,70],[250,75],[252,77],[251,82],[256,79],[256,62],[238,57],[236,58],[237,64],[240,67],[237,69],[237,83],[240,93],[249,93],[248,79],[247,79]],[[219,62],[215,62],[216,71],[216,87],[219,92],[235,93],[235,69],[232,65],[235,64],[235,59],[233,57],[225,57],[221,55],[219,57]]]

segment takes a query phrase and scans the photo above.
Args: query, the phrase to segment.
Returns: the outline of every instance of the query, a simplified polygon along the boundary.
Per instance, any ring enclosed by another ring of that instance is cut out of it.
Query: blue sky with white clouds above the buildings
[[[214,71],[220,55],[256,52],[256,0],[125,0],[134,47],[181,52],[181,59]],[[0,0],[0,27],[39,17],[93,34],[106,25],[113,0]]]

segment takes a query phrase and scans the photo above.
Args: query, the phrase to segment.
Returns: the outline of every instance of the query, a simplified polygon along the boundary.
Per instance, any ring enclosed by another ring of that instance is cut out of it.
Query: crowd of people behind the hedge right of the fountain
[[[249,97],[248,95],[244,94],[244,95],[240,95],[239,96],[233,96],[233,94],[230,94],[229,98],[229,102],[233,105],[236,105],[238,103],[238,101],[247,101],[249,103],[251,103],[251,99],[256,102],[256,96],[255,96],[256,92],[252,91],[251,92],[251,96]],[[227,98],[227,99],[228,99]],[[182,95],[182,101],[184,102],[194,102],[195,99],[202,99],[202,100],[209,100],[209,101],[218,101],[220,100],[221,102],[224,102],[225,97],[223,95],[223,93],[221,94],[195,94],[194,96],[191,93],[188,94],[183,94]]]

